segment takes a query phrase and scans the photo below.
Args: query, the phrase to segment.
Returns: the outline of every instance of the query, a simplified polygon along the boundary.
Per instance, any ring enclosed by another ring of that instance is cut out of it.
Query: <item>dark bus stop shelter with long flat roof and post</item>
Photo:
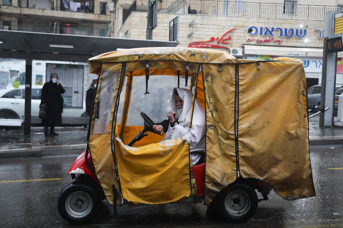
[[[31,132],[32,60],[87,62],[93,56],[117,49],[176,47],[177,41],[120,39],[22,31],[0,31],[0,58],[25,59],[24,134]],[[88,124],[88,117],[73,122]]]

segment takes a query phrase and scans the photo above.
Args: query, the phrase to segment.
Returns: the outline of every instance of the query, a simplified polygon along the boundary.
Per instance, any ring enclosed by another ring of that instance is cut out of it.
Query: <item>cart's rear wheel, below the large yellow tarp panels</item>
[[[255,190],[249,186],[234,184],[220,193],[216,205],[226,221],[242,223],[255,214],[258,198]]]

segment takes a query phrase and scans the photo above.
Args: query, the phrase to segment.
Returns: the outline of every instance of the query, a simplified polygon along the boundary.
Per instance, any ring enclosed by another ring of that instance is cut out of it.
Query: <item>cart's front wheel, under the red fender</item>
[[[57,206],[63,219],[80,225],[95,218],[100,203],[100,195],[95,188],[81,181],[74,181],[61,191]]]

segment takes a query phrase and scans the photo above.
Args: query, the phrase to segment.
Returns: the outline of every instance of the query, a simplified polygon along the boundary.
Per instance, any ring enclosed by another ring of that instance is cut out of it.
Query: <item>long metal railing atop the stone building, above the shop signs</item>
[[[147,0],[134,0],[127,13],[123,16],[123,23],[132,11],[147,12],[148,2]],[[156,0],[156,2],[158,12],[178,14],[325,20],[327,11],[340,11],[337,6],[326,5],[210,0]]]

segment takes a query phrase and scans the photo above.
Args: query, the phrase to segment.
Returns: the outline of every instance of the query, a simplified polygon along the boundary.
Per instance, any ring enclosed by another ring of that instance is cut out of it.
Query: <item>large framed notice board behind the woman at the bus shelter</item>
[[[63,86],[63,108],[83,108],[83,78],[84,65],[76,64],[46,64],[46,81],[50,74],[56,73],[58,81]]]

